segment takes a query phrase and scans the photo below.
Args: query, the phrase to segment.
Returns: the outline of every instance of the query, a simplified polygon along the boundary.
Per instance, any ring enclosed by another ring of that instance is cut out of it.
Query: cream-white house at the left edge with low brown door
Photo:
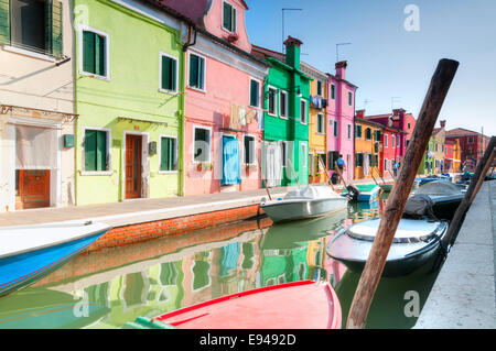
[[[0,0],[0,212],[75,204],[71,3]]]

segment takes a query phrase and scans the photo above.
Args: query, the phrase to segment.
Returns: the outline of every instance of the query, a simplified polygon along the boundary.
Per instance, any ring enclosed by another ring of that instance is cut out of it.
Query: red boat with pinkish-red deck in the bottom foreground
[[[151,320],[138,318],[127,327],[339,329],[341,317],[339,300],[328,283],[302,281],[223,296]]]

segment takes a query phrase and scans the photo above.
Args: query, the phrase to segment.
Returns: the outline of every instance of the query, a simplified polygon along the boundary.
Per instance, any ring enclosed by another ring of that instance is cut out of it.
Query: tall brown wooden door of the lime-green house
[[[126,136],[126,198],[141,197],[141,135]]]

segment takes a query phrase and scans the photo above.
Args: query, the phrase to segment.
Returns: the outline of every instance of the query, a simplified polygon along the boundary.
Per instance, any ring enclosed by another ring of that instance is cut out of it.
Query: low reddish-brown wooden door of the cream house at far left
[[[18,172],[15,209],[50,207],[50,169]]]

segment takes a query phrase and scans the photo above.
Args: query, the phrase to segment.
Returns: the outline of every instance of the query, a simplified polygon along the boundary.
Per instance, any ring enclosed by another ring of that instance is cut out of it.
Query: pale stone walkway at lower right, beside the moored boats
[[[472,204],[417,320],[418,329],[496,328],[496,180]]]

